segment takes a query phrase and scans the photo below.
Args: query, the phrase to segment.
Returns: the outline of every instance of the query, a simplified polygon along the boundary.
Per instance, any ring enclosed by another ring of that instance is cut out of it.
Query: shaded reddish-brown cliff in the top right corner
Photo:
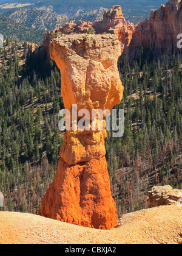
[[[169,0],[160,9],[152,10],[150,18],[141,21],[135,27],[130,43],[130,55],[137,52],[143,44],[144,49],[151,50],[153,55],[178,51],[177,35],[182,33],[182,1]]]

